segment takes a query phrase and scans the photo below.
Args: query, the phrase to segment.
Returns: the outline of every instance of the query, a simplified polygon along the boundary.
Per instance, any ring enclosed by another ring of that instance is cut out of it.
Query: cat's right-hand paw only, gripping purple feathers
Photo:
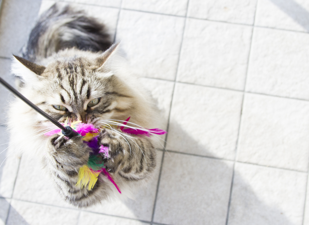
[[[111,173],[121,170],[126,159],[126,149],[129,143],[115,131],[105,129],[99,136],[101,155],[105,158],[106,169]]]

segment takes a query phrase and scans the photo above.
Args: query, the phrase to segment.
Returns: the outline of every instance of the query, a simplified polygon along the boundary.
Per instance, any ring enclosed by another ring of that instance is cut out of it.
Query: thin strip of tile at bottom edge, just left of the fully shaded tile
[[[148,223],[142,223],[138,220],[126,219],[126,218],[119,218],[115,216],[108,216],[108,215],[100,215],[96,213],[88,213],[82,212],[78,225],[97,225],[100,224],[99,221],[103,221],[103,224],[108,225],[146,225]]]

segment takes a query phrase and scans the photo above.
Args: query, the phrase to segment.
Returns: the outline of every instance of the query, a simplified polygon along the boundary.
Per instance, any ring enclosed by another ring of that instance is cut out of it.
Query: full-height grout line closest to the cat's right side
[[[176,76],[175,76],[175,80],[174,80],[174,81],[177,80],[177,74],[178,74],[179,62],[180,62],[180,54],[181,54],[181,49],[182,49],[182,43],[183,43],[183,40],[184,40],[184,32],[185,32],[186,24],[187,24],[188,5],[189,5],[189,0],[188,0],[188,3],[187,3],[186,19],[185,19],[185,21],[184,21],[184,29],[183,29],[183,32],[182,32],[182,37],[181,37],[181,42],[180,42],[180,50],[179,50],[178,62],[177,62],[177,70],[176,70]],[[168,121],[168,122],[167,122],[167,129],[166,129],[167,132],[168,132],[169,125],[170,125],[170,120],[171,120],[171,109],[172,109],[172,103],[173,103],[173,98],[174,98],[174,93],[175,93],[175,86],[176,86],[176,82],[174,82],[174,85],[173,85],[173,91],[172,91],[172,97],[171,97],[171,104],[170,104],[170,111],[169,111],[169,113],[168,113],[168,118],[167,118],[167,121]],[[166,143],[167,143],[167,136],[168,136],[168,133],[167,133],[167,135],[165,136],[165,143],[164,143],[164,148],[165,148],[165,149],[166,149]],[[160,180],[161,180],[161,174],[162,174],[164,156],[165,156],[165,152],[163,152],[163,155],[162,155],[162,161],[161,161],[159,179],[158,179],[157,190],[156,190],[156,194],[155,194],[155,202],[154,202],[154,206],[153,206],[153,210],[152,210],[152,216],[151,216],[151,224],[153,224],[153,222],[154,222],[154,217],[155,217],[155,207],[156,207],[156,205],[157,205],[157,198],[158,198],[158,193],[159,193],[159,185],[160,185]]]

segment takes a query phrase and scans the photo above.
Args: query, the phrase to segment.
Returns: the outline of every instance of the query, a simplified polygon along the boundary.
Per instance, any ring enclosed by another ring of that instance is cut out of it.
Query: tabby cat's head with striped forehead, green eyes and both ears
[[[57,121],[125,120],[133,113],[134,95],[109,66],[116,48],[114,44],[102,54],[65,50],[46,66],[15,56],[12,72],[24,82],[22,94]],[[28,111],[21,108],[20,113],[34,125],[47,122],[24,108]]]

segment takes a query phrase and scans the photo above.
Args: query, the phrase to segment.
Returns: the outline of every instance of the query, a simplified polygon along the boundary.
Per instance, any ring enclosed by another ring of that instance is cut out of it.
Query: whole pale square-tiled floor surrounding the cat
[[[1,76],[52,0],[2,0]],[[135,200],[79,210],[6,150],[0,224],[309,225],[307,0],[66,0],[103,21],[165,111],[166,151]],[[0,86],[0,123],[12,95]],[[33,185],[35,184],[35,185]],[[306,198],[307,196],[307,198]]]

